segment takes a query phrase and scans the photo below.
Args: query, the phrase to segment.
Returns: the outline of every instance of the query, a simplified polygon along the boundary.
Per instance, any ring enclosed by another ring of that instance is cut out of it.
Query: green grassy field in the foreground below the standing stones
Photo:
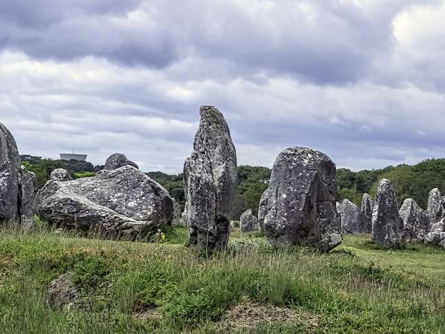
[[[0,333],[445,333],[445,252],[387,250],[348,236],[332,253],[270,249],[234,232],[221,253],[0,232]],[[72,271],[81,301],[51,308],[48,283]]]

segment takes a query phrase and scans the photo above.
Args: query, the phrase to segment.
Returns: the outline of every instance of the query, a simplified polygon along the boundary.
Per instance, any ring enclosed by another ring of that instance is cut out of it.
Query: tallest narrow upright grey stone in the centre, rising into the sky
[[[214,106],[201,106],[193,152],[184,164],[189,245],[227,244],[237,183],[236,151],[229,127]]]

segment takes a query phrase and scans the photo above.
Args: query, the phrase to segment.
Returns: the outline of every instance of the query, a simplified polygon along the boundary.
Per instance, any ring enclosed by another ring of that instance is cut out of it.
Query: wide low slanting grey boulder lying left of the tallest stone
[[[38,192],[35,207],[40,218],[58,228],[94,229],[124,239],[145,237],[173,218],[168,191],[129,165],[94,177],[49,181]]]

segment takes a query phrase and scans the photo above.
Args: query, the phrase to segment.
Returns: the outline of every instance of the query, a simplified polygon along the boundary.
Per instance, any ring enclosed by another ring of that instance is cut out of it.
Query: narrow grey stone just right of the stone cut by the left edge
[[[22,166],[22,177],[20,179],[20,221],[24,228],[31,228],[34,223],[34,198],[35,189],[37,188],[35,174],[29,172]]]

